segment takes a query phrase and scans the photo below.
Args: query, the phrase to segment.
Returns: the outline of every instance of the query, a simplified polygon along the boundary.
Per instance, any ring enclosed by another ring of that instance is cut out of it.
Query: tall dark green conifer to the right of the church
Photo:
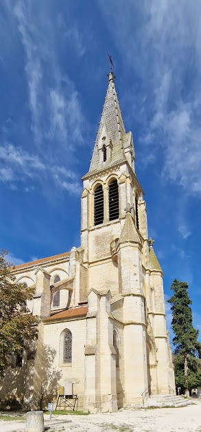
[[[174,332],[174,370],[177,387],[189,393],[193,387],[201,384],[200,357],[201,344],[198,341],[199,330],[193,327],[191,311],[192,301],[188,294],[189,285],[174,279],[168,300],[172,310],[172,330]]]

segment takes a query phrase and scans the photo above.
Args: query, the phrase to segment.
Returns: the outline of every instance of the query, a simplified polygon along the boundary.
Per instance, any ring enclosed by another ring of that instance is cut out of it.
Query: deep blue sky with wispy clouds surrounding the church
[[[110,53],[165,298],[187,281],[201,330],[200,1],[1,0],[0,36],[1,247],[19,264],[79,246]]]

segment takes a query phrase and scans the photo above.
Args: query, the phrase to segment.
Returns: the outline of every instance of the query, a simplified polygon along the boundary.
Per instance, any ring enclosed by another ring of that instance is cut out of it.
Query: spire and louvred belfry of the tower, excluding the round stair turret
[[[134,170],[132,133],[126,133],[123,125],[113,72],[108,74],[91,165],[82,181],[81,238],[88,290],[108,288],[113,295],[118,294],[114,245],[121,235],[126,206],[130,204],[134,224],[145,238],[147,225],[143,190]],[[147,254],[148,249],[145,257]]]

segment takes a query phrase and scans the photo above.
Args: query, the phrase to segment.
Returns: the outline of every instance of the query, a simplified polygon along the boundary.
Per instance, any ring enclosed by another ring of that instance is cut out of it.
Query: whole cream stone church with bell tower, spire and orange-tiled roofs
[[[41,322],[36,345],[8,369],[0,398],[9,391],[38,408],[56,401],[62,385],[78,395],[78,409],[113,412],[175,389],[163,271],[113,72],[82,181],[81,246],[13,270],[17,282],[34,285],[28,307]]]

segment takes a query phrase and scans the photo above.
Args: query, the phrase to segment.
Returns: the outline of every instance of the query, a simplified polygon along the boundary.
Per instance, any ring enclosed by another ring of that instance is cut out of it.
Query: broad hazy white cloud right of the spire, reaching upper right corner
[[[122,7],[121,0],[107,6],[99,1],[126,69],[134,69],[140,80],[141,91],[134,88],[134,99],[130,96],[130,113],[143,125],[137,138],[142,159],[152,164],[161,155],[163,180],[201,195],[201,3],[154,0],[139,6],[127,1],[123,16]]]

